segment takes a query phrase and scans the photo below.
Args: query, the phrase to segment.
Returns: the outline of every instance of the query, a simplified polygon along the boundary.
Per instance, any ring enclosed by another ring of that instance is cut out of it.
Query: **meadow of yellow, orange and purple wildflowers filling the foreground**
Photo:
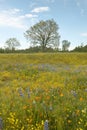
[[[1,54],[0,130],[87,130],[87,53]]]

